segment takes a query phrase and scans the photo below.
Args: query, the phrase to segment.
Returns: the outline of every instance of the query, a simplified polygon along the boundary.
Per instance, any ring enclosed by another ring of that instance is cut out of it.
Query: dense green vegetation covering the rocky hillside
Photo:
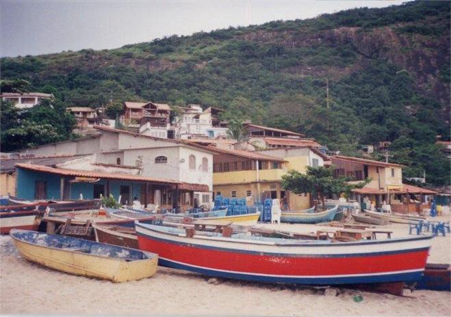
[[[305,133],[342,154],[391,141],[391,160],[409,166],[406,176],[426,170],[428,182],[446,184],[449,161],[434,143],[450,137],[449,43],[450,3],[417,1],[109,51],[3,58],[1,72],[65,105],[112,98],[112,118],[124,100],[198,103],[226,109],[233,122]]]

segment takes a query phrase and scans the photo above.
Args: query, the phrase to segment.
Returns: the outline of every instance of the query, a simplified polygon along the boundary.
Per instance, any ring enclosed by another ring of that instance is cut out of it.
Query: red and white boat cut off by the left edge
[[[0,234],[8,234],[10,230],[25,229],[37,230],[40,224],[40,210],[23,210],[0,212]]]

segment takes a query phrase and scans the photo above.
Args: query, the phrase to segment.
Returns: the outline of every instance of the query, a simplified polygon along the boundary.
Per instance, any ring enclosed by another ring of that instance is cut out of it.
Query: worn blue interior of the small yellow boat
[[[62,236],[59,234],[44,234],[42,232],[29,230],[12,230],[10,234],[18,240],[33,245],[89,253],[93,256],[105,258],[117,258],[127,262],[151,258],[151,253],[144,253],[140,250],[118,247],[116,245],[107,245],[105,243],[96,243],[90,240],[72,238],[70,236]]]

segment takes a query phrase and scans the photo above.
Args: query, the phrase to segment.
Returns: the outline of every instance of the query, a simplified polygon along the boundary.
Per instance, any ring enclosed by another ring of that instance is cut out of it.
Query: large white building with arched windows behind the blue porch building
[[[105,126],[94,128],[99,131],[96,135],[29,148],[27,152],[36,156],[93,154],[95,163],[139,167],[140,176],[180,183],[177,189],[182,210],[193,206],[194,198],[199,205],[211,202],[213,153],[208,148],[188,141],[151,137]],[[148,190],[152,192],[141,196],[149,199],[142,200],[143,204],[167,204],[168,193],[152,187]]]

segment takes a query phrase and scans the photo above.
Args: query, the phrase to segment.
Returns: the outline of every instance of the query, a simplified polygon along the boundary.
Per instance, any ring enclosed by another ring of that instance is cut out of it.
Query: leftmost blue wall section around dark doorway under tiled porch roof
[[[16,169],[16,193],[18,197],[34,200],[36,180],[47,182],[46,199],[60,199],[61,176],[28,169]]]

